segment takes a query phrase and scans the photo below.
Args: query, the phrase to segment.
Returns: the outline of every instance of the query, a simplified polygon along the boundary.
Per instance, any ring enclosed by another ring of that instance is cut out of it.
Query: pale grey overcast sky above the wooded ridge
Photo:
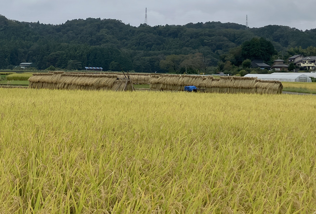
[[[0,0],[0,14],[8,19],[45,24],[67,20],[118,19],[125,24],[185,25],[220,21],[248,26],[285,25],[316,28],[315,0]]]

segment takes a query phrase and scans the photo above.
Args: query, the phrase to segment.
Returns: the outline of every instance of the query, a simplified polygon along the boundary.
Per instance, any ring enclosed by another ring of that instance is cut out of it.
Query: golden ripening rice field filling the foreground
[[[0,88],[1,214],[313,214],[316,99]]]

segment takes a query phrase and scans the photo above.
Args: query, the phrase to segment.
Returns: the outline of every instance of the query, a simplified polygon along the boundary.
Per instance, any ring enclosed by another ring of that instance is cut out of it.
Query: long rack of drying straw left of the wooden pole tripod
[[[54,72],[35,74],[29,79],[30,88],[68,89],[68,90],[132,90],[126,79],[118,79],[117,75],[79,74]]]

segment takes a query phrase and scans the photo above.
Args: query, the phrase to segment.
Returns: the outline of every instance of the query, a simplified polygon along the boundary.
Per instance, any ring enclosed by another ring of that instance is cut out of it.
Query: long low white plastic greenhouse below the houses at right
[[[245,77],[256,77],[259,80],[275,80],[281,82],[307,82],[311,83],[310,77],[302,73],[293,74],[247,74]]]

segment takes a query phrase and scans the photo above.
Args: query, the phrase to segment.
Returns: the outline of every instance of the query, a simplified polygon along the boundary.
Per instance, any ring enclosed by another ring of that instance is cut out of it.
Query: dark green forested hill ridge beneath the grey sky
[[[52,65],[118,70],[119,63],[124,70],[166,72],[160,63],[166,56],[193,57],[199,53],[207,66],[216,66],[220,56],[253,37],[272,42],[280,54],[291,47],[316,46],[316,29],[302,32],[286,26],[246,30],[235,23],[206,22],[133,27],[118,20],[94,18],[47,25],[0,16],[0,68],[33,62],[38,69]]]

